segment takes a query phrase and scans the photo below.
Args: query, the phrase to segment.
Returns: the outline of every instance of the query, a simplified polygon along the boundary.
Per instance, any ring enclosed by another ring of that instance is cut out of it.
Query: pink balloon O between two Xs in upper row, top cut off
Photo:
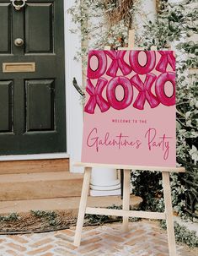
[[[131,51],[129,55],[129,61],[131,68],[136,74],[147,74],[153,70],[156,63],[155,52],[145,52],[147,55],[147,63],[142,66],[138,61],[138,56],[141,51]]]

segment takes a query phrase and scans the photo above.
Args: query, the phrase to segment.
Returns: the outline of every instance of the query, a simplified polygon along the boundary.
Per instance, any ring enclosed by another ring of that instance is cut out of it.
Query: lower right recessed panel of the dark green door
[[[26,81],[27,132],[54,130],[54,80]]]

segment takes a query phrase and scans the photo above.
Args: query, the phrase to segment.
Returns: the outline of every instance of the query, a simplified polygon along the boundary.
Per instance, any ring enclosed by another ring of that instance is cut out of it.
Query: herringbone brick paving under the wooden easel
[[[75,229],[40,234],[0,236],[0,256],[169,256],[167,235],[157,221],[83,228],[80,248],[73,246]],[[177,245],[178,256],[198,256],[197,250]]]

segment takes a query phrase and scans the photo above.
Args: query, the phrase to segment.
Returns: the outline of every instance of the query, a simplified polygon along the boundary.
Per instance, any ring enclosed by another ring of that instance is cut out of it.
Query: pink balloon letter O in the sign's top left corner
[[[95,56],[98,58],[98,68],[93,70],[90,67],[91,58]],[[103,75],[106,71],[107,66],[107,58],[106,54],[102,51],[90,51],[88,53],[88,78],[89,79],[98,79],[101,75]]]

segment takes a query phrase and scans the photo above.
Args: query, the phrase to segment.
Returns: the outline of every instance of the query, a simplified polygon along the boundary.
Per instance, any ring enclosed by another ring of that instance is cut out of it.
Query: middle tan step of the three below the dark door
[[[56,199],[81,195],[83,174],[35,172],[0,175],[1,201]]]

